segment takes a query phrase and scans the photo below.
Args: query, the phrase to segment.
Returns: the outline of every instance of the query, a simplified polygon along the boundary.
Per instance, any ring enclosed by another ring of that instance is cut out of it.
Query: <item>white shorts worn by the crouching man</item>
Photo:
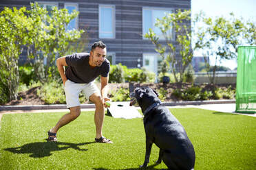
[[[96,84],[94,84],[94,82],[90,82],[89,84],[81,84],[67,80],[67,82],[65,82],[64,90],[66,95],[67,108],[80,106],[79,94],[81,92],[87,99],[89,99],[89,97],[94,93],[100,94],[100,90]]]

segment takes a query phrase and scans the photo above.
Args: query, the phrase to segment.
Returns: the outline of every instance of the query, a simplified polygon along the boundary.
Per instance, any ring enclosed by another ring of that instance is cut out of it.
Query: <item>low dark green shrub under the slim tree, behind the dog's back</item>
[[[172,95],[177,97],[178,99],[186,100],[186,101],[195,101],[195,100],[206,100],[209,99],[213,95],[211,91],[202,91],[200,86],[191,86],[187,89],[179,89],[176,88],[173,90]]]

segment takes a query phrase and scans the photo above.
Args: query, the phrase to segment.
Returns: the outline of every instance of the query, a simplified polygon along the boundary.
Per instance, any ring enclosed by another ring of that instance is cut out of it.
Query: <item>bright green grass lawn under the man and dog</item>
[[[197,108],[173,108],[195,147],[195,169],[255,169],[256,119]],[[47,131],[64,113],[4,114],[0,123],[0,169],[138,169],[145,157],[142,119],[106,116],[103,134],[114,144],[94,143],[94,112],[82,112],[58,132]],[[148,169],[158,147],[153,145]]]

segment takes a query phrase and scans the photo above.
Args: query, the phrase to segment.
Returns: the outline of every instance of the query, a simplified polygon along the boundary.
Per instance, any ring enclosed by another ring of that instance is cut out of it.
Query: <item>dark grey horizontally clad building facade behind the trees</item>
[[[155,73],[160,57],[154,50],[155,46],[143,35],[153,28],[156,18],[178,9],[191,9],[191,0],[1,0],[0,10],[14,6],[29,9],[31,2],[38,2],[47,9],[57,6],[70,12],[78,10],[78,18],[68,29],[86,29],[89,46],[103,40],[112,64],[122,63],[129,68],[144,66]],[[155,29],[155,32],[160,33],[160,30]]]

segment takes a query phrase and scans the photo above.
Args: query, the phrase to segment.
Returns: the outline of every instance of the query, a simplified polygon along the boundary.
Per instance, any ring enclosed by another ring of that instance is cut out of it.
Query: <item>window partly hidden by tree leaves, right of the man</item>
[[[170,9],[159,9],[159,8],[143,8],[142,10],[142,32],[145,35],[149,32],[149,28],[153,29],[156,35],[163,39],[162,32],[158,27],[155,27],[156,19],[162,19],[166,14],[171,13]]]

